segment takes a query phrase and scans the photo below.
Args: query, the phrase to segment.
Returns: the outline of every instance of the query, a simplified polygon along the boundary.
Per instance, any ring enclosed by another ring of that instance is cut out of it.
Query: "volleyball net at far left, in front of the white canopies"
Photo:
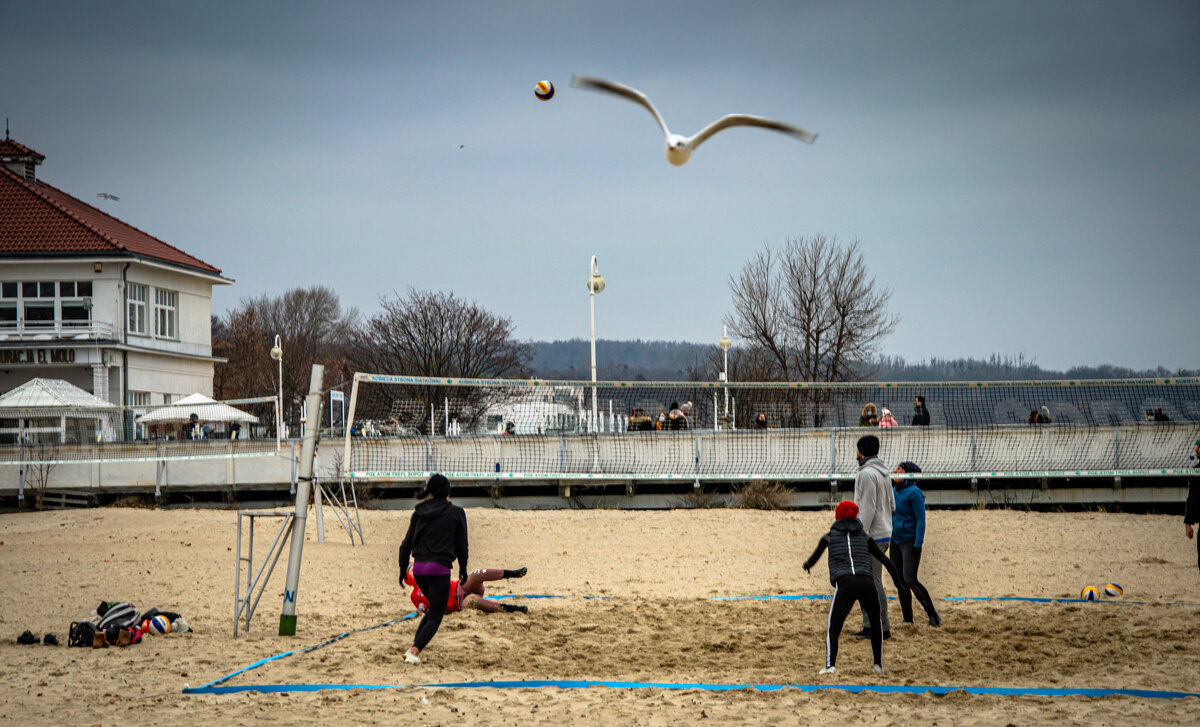
[[[163,405],[101,399],[55,403],[47,390],[0,409],[0,465],[162,462],[275,456],[277,397],[214,401],[193,395]],[[48,395],[48,396],[47,396]]]

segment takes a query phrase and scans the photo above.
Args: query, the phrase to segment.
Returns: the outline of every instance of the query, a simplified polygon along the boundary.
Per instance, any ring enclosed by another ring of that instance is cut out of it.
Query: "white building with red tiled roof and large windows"
[[[0,392],[65,379],[110,403],[212,395],[221,270],[36,179],[0,142]]]

